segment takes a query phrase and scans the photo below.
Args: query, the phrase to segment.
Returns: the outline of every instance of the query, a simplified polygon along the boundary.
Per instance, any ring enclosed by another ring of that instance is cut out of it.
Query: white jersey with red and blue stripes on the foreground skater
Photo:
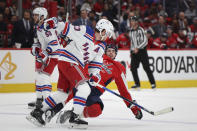
[[[80,64],[82,67],[88,64],[89,74],[98,74],[103,63],[102,56],[106,43],[95,44],[93,42],[94,31],[92,28],[89,26],[73,26],[66,22],[61,35],[69,37],[73,42],[59,50],[59,60]]]

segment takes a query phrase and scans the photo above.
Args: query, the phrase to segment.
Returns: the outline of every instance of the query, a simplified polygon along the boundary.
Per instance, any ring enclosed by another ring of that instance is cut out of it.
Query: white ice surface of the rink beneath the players
[[[98,118],[89,118],[86,131],[197,131],[197,88],[164,88],[129,90],[138,104],[153,111],[169,106],[171,113],[152,116],[143,111],[143,119],[137,120],[126,108],[122,99],[105,92],[102,96],[104,111]],[[36,127],[25,117],[31,111],[27,103],[35,99],[34,93],[0,94],[1,131],[75,131],[67,124],[56,124],[56,117],[45,127]],[[65,107],[71,108],[71,104]]]

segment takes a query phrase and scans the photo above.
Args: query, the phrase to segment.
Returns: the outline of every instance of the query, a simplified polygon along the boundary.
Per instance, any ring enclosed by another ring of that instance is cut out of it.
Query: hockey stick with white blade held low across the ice
[[[104,87],[104,86],[102,86],[102,85],[100,85],[100,84],[97,84],[97,86],[99,86],[99,87],[103,88],[104,90],[106,90],[106,91],[108,91],[108,92],[110,92],[110,93],[112,93],[112,94],[114,94],[114,95],[116,95],[116,96],[122,98],[123,100],[129,102],[130,104],[134,104],[135,106],[139,107],[140,109],[142,109],[142,110],[144,110],[144,111],[146,111],[146,112],[148,112],[149,114],[154,115],[154,116],[162,115],[162,114],[165,114],[165,113],[169,113],[169,112],[172,112],[172,111],[174,110],[173,107],[167,107],[167,108],[164,108],[164,109],[159,110],[159,111],[156,111],[156,112],[150,111],[150,110],[144,108],[143,106],[138,105],[137,103],[134,103],[134,102],[130,101],[129,99],[127,99],[127,98],[125,98],[125,97],[119,95],[118,93],[116,93],[116,92],[114,92],[114,91],[112,91],[112,90],[110,90],[110,89],[108,89],[108,88],[106,88],[106,87]]]

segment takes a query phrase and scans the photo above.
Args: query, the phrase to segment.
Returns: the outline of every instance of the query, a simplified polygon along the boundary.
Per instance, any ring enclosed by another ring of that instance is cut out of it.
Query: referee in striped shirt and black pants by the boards
[[[135,85],[131,88],[140,88],[140,80],[138,77],[137,68],[141,62],[151,83],[151,87],[154,89],[156,88],[156,85],[153,73],[149,67],[148,53],[146,50],[146,46],[148,44],[146,33],[144,29],[138,25],[138,18],[136,16],[132,16],[130,18],[130,25],[131,31],[129,36],[131,40],[131,72],[135,81]]]

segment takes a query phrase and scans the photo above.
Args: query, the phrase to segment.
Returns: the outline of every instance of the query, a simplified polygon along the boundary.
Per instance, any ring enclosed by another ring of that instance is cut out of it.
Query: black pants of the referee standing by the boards
[[[140,86],[140,80],[139,80],[138,71],[137,71],[137,68],[139,67],[140,62],[142,63],[142,66],[148,76],[148,79],[151,85],[155,84],[153,73],[150,70],[148,53],[147,53],[146,48],[139,49],[137,54],[131,53],[131,72],[132,72],[135,84]]]

